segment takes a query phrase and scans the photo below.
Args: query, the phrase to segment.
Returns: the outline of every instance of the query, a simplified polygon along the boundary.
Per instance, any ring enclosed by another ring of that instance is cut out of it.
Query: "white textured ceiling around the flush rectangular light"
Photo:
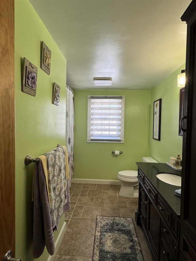
[[[180,17],[191,0],[29,1],[67,60],[72,89],[108,89],[94,77],[111,77],[112,89],[150,89],[185,63]]]

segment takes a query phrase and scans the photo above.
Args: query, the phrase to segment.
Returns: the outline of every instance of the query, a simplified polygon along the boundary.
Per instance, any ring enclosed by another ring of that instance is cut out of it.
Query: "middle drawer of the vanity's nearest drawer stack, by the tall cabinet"
[[[174,260],[179,260],[178,241],[172,235],[169,227],[161,220],[161,237],[167,242],[167,247]]]

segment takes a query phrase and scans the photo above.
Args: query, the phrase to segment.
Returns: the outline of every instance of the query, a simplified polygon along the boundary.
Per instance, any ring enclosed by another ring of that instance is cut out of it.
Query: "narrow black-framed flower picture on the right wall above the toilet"
[[[161,99],[154,101],[153,139],[160,140]]]

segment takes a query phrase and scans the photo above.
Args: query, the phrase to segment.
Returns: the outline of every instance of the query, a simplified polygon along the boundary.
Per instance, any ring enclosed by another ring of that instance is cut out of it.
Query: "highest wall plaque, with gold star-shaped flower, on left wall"
[[[47,74],[50,74],[50,66],[51,66],[51,50],[42,41],[42,47],[41,47],[41,69],[44,70]]]

